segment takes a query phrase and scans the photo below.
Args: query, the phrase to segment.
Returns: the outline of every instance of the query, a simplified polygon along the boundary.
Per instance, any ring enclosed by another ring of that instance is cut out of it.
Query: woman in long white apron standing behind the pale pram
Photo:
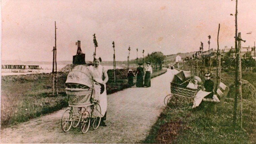
[[[94,58],[94,66],[90,66],[90,69],[92,71],[93,79],[104,85],[104,91],[99,96],[99,105],[101,108],[101,115],[104,115],[102,117],[102,120],[100,122],[101,126],[107,126],[104,120],[106,120],[106,111],[107,111],[107,92],[106,92],[106,82],[108,81],[108,75],[107,75],[107,69],[100,65],[101,58]]]

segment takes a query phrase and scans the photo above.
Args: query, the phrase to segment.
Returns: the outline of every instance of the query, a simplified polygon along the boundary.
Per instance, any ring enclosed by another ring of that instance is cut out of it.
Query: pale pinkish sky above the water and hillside
[[[244,47],[256,40],[256,1],[238,0],[237,25]],[[164,55],[234,47],[235,0],[1,0],[2,60],[72,61],[77,40],[93,60],[93,34],[102,61],[130,60],[154,51]],[[233,15],[230,15],[233,14]],[[251,34],[247,34],[251,32]]]

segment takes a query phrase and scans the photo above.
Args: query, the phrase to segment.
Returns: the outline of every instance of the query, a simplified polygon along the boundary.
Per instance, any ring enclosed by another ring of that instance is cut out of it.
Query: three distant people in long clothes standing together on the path
[[[135,72],[135,75],[137,75],[137,80],[136,80],[136,87],[150,87],[151,86],[151,74],[152,74],[152,67],[151,67],[151,63],[147,62],[146,63],[146,73],[145,73],[145,78],[144,78],[144,82],[143,82],[143,76],[144,76],[144,70],[141,67],[142,63],[139,63],[139,67],[137,67],[137,70]],[[135,76],[133,74],[133,70],[129,69],[128,70],[128,84],[130,87],[133,86],[133,77]]]

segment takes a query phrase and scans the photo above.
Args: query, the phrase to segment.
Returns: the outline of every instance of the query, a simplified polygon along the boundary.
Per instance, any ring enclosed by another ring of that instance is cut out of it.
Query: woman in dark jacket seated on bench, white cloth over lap
[[[212,98],[213,97],[213,87],[214,83],[211,80],[211,73],[205,74],[205,81],[204,81],[204,87],[200,91],[197,92],[196,96],[194,97],[194,104],[193,108],[200,105],[203,98]]]

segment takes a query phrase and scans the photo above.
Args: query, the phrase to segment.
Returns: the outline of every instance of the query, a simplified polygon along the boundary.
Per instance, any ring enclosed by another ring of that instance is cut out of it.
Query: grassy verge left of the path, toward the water
[[[154,72],[152,77],[158,76],[165,71]],[[67,107],[68,100],[65,93],[67,74],[68,72],[58,73],[58,96],[52,95],[51,74],[2,76],[2,128]],[[108,70],[108,75],[107,94],[128,88],[126,69],[118,70],[117,83],[114,82],[112,70]]]

